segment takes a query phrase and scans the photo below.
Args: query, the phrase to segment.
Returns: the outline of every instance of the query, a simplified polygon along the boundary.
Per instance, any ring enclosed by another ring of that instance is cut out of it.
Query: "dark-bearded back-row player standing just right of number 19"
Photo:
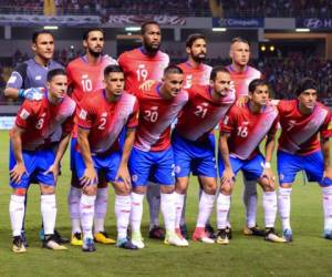
[[[186,52],[188,60],[184,63],[178,64],[178,66],[184,71],[185,85],[184,89],[188,90],[193,85],[208,85],[210,80],[211,66],[204,63],[207,53],[206,38],[201,33],[193,33],[186,40]],[[203,184],[200,178],[198,178],[200,185],[200,194]],[[186,197],[185,197],[186,203]],[[187,237],[187,227],[185,219],[185,205],[183,208],[183,215],[180,219],[180,230],[183,236]],[[207,224],[207,230],[214,234],[210,224]]]

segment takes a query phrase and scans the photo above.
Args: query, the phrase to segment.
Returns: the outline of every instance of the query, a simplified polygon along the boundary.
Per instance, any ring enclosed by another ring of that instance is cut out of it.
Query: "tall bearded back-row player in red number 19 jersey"
[[[168,54],[159,50],[162,42],[160,27],[155,21],[147,21],[141,27],[142,47],[124,52],[118,64],[125,72],[125,88],[129,93],[141,91],[144,83],[162,81],[164,69],[169,63]],[[151,179],[153,181],[153,179]],[[149,205],[149,237],[163,239],[164,229],[159,227],[160,192],[156,183],[148,183],[147,201]]]

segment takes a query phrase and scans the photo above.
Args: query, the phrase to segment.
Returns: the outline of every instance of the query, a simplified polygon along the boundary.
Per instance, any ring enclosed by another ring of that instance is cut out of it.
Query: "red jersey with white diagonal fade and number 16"
[[[262,112],[252,113],[248,104],[243,107],[232,106],[220,123],[220,130],[230,133],[230,156],[250,160],[259,153],[259,144],[266,135],[276,134],[278,110],[269,104]]]

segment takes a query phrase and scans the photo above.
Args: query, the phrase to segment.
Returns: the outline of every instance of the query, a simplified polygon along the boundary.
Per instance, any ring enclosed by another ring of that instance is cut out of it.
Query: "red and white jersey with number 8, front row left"
[[[52,104],[48,92],[41,101],[25,100],[15,119],[15,125],[25,131],[22,148],[34,151],[60,142],[73,129],[75,106],[69,96],[58,105]]]

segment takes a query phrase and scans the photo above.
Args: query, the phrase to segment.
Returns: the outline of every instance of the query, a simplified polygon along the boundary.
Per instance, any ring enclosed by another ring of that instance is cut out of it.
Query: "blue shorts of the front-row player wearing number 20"
[[[129,158],[129,172],[134,187],[146,186],[147,181],[154,181],[160,185],[174,185],[173,148],[144,152],[133,147]]]

